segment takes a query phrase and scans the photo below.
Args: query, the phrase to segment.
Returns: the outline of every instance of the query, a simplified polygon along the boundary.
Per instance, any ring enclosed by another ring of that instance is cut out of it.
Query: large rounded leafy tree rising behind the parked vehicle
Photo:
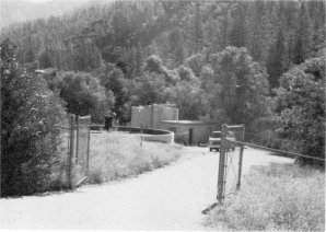
[[[212,56],[211,67],[207,91],[216,120],[251,126],[266,114],[267,73],[246,48],[226,47]]]

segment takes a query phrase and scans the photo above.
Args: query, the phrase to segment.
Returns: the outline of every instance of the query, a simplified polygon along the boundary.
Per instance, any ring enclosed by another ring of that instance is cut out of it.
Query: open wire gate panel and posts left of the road
[[[66,179],[70,189],[79,187],[89,175],[91,116],[69,116],[68,127],[61,129],[61,153]]]

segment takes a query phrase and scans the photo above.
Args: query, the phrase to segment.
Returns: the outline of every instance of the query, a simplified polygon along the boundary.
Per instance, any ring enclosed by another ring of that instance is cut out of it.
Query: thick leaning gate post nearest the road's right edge
[[[225,172],[225,146],[226,146],[226,134],[228,126],[223,124],[222,126],[222,136],[221,136],[221,147],[220,147],[220,161],[219,161],[219,178],[218,178],[218,201],[222,204],[223,193],[224,193],[224,172]]]

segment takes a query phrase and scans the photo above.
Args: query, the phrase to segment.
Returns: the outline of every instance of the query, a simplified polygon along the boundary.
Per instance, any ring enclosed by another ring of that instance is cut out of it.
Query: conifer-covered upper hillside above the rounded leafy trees
[[[119,65],[129,79],[153,54],[174,69],[195,54],[208,61],[226,46],[246,47],[278,86],[280,73],[323,47],[324,19],[323,1],[117,1],[2,34],[19,45],[23,63],[90,71],[106,61]]]

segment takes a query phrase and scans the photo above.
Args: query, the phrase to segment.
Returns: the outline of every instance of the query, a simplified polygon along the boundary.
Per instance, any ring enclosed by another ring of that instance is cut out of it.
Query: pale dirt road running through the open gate
[[[219,153],[187,149],[198,152],[138,177],[73,193],[0,199],[0,229],[205,230],[201,210],[216,201]],[[293,161],[248,148],[243,173],[271,162]]]

